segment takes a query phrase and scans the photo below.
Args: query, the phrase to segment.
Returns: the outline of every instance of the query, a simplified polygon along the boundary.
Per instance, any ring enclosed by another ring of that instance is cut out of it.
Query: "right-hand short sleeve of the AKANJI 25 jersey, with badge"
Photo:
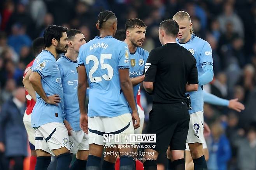
[[[119,46],[118,69],[130,68],[129,54],[130,52],[126,43],[122,42]]]

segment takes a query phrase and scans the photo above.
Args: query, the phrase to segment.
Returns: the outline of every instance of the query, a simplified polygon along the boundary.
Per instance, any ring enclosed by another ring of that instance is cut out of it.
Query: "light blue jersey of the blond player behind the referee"
[[[198,70],[200,87],[196,92],[188,92],[192,106],[189,114],[203,111],[203,85],[211,82],[213,78],[212,48],[207,41],[195,36],[195,34],[191,35],[188,42],[180,43],[177,39],[177,43],[193,54]]]

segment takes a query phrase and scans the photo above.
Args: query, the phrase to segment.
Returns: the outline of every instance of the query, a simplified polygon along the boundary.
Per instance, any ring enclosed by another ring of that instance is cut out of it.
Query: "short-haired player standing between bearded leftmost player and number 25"
[[[69,135],[70,153],[76,154],[71,170],[86,168],[89,141],[88,135],[79,126],[79,104],[77,99],[77,56],[81,45],[86,43],[84,35],[77,29],[67,31],[67,53],[57,60],[60,69],[64,101],[64,124]]]

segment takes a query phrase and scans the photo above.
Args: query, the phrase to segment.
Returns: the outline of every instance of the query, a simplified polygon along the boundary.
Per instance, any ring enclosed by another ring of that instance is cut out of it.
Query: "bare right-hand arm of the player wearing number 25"
[[[140,118],[139,118],[137,107],[134,101],[132,82],[129,76],[129,69],[118,69],[118,71],[119,71],[120,86],[124,93],[124,97],[126,98],[127,102],[132,108],[133,127],[138,128],[140,127]],[[136,123],[135,123],[135,120],[136,120]]]

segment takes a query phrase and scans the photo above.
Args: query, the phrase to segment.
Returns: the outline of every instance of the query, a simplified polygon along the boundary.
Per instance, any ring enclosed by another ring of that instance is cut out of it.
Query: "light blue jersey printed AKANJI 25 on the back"
[[[130,113],[121,90],[119,69],[129,69],[129,49],[126,43],[112,36],[93,40],[79,49],[78,65],[84,65],[91,85],[88,116],[114,117]]]

